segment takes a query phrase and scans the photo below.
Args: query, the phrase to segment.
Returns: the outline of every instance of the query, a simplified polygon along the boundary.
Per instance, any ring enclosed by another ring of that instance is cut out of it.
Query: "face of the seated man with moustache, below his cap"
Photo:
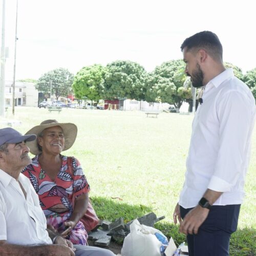
[[[5,164],[13,169],[22,170],[32,162],[28,155],[29,151],[28,146],[23,141],[16,144],[8,144],[7,151],[1,152],[1,154],[5,160]]]

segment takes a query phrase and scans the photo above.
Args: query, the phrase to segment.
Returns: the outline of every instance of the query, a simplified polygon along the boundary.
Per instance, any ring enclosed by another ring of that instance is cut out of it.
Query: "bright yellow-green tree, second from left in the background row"
[[[101,65],[83,67],[74,78],[73,90],[78,99],[99,102],[103,98],[105,68]]]

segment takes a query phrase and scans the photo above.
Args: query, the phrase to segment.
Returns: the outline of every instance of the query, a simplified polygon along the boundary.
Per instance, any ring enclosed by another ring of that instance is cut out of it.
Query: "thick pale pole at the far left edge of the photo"
[[[0,117],[5,116],[5,0],[3,1],[2,14],[2,45],[1,45],[1,79],[0,79]]]

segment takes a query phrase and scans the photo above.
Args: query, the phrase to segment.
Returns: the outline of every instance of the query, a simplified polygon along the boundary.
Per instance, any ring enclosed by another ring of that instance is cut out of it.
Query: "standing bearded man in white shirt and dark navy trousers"
[[[204,88],[193,125],[185,183],[174,222],[187,235],[189,256],[229,255],[237,229],[255,122],[255,99],[225,69],[218,36],[203,31],[181,45],[185,73]]]

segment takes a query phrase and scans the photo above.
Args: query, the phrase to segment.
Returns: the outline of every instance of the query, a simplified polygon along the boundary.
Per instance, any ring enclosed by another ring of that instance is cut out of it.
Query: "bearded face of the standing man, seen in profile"
[[[202,87],[204,85],[204,73],[198,63],[197,56],[183,49],[183,60],[186,63],[185,73],[190,76],[192,85],[196,88]]]

